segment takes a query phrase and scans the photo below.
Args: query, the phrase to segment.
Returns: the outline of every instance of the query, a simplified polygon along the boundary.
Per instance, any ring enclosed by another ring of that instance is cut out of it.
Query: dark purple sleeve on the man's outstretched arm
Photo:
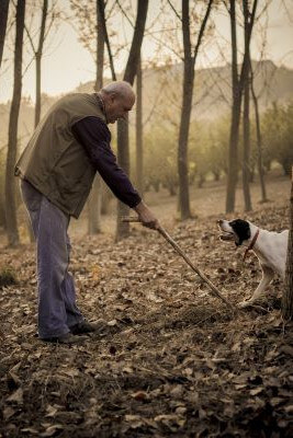
[[[136,207],[142,198],[116,162],[106,124],[99,117],[84,117],[72,126],[72,134],[113,194],[128,207]]]

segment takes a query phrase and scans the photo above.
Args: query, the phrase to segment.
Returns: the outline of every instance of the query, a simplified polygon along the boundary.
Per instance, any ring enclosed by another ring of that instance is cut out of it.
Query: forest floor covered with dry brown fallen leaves
[[[268,230],[288,228],[289,187],[273,180],[271,201],[246,217]],[[243,263],[241,247],[218,240],[223,195],[206,187],[194,201],[199,217],[181,223],[171,207],[154,208],[237,303],[260,270],[255,256]],[[114,243],[111,233],[86,237],[78,223],[70,265],[78,304],[101,323],[80,345],[38,341],[34,246],[0,250],[1,266],[16,274],[16,284],[0,288],[0,437],[293,436],[292,326],[280,315],[281,280],[262,308],[234,313],[156,232],[136,224]]]

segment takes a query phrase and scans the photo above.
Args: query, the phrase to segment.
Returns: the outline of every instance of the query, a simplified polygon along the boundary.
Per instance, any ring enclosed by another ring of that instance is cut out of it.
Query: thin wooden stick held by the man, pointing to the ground
[[[138,218],[134,218],[134,217],[122,218],[122,221],[123,222],[140,222],[140,220]],[[215,285],[213,285],[213,283],[211,280],[209,280],[209,278],[195,265],[193,265],[191,260],[187,256],[187,254],[183,253],[183,251],[178,245],[178,243],[176,243],[176,241],[168,234],[168,232],[162,227],[158,228],[158,232],[173,246],[176,252],[179,255],[181,255],[182,258],[184,258],[184,261],[192,268],[192,270],[194,270],[201,277],[201,279],[204,283],[206,283],[206,285],[212,290],[212,293],[215,297],[219,298],[222,301],[224,301],[229,308],[232,308],[233,310],[236,310],[235,307],[221,293],[221,291],[217,289],[217,287]]]

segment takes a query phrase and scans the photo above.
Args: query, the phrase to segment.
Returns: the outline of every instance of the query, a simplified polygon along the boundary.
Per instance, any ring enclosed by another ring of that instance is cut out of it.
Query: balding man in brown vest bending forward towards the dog
[[[108,124],[125,118],[134,102],[132,87],[123,81],[98,93],[66,95],[38,124],[15,165],[36,239],[38,336],[43,341],[74,344],[97,330],[76,304],[67,233],[70,217],[78,218],[86,204],[97,171],[144,226],[159,226],[110,146]]]

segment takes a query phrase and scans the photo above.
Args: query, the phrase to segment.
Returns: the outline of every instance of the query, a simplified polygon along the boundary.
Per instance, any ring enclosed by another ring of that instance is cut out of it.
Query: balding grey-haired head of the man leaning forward
[[[114,123],[125,118],[135,102],[132,85],[125,81],[111,82],[99,92],[104,103],[106,122]]]

